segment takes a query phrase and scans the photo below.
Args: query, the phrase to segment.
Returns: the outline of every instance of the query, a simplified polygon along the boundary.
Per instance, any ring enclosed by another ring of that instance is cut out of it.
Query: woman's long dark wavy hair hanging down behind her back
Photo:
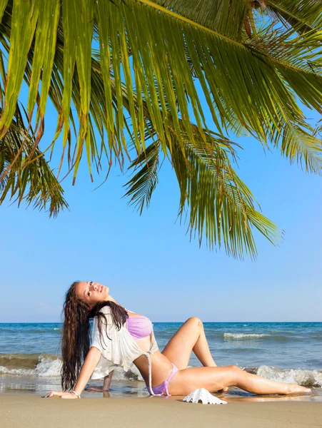
[[[89,303],[80,300],[76,295],[76,285],[79,281],[73,282],[66,292],[63,307],[64,327],[61,337],[61,355],[63,365],[61,367],[61,387],[64,391],[73,389],[77,377],[81,371],[81,366],[89,352],[90,347],[90,320],[98,317],[98,327],[101,333],[102,318],[105,315],[99,312],[102,307],[111,307],[111,316],[117,329],[126,322],[129,317],[126,309],[110,300],[98,302],[91,306]]]

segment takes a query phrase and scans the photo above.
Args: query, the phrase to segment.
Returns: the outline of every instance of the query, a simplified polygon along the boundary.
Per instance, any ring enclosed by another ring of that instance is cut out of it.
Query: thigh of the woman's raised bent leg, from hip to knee
[[[193,346],[200,335],[202,322],[197,317],[191,317],[181,325],[175,335],[171,337],[168,345],[162,351],[168,360],[178,367],[179,370],[188,367],[189,358]]]

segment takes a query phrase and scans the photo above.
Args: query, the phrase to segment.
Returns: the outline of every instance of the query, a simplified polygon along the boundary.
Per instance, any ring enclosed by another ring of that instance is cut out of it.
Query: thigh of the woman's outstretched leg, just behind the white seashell
[[[186,395],[200,388],[216,392],[236,383],[233,367],[189,367],[179,370],[169,382],[168,392],[171,395]]]

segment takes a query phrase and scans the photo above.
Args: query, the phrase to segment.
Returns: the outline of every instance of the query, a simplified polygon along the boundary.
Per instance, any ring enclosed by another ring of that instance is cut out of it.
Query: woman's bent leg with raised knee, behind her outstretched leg
[[[169,340],[162,354],[173,362],[179,370],[183,370],[188,367],[191,351],[196,354],[204,367],[216,367],[203,330],[203,323],[197,317],[191,317],[181,325],[176,334]]]

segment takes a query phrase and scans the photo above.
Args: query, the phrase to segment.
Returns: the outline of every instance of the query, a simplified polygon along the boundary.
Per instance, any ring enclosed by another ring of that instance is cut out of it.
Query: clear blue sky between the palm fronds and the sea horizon
[[[308,117],[318,119],[311,112]],[[46,142],[55,126],[49,106]],[[178,185],[166,163],[141,217],[121,198],[128,176],[114,168],[92,191],[104,175],[92,184],[83,165],[74,187],[71,177],[64,182],[70,212],[49,219],[9,201],[0,207],[0,322],[58,322],[74,280],[109,285],[117,301],[155,322],[191,316],[214,322],[322,321],[322,178],[289,165],[277,151],[264,153],[254,138],[232,139],[244,147],[238,151],[241,178],[263,213],[285,230],[279,247],[255,233],[258,259],[241,262],[190,242],[176,221]]]

